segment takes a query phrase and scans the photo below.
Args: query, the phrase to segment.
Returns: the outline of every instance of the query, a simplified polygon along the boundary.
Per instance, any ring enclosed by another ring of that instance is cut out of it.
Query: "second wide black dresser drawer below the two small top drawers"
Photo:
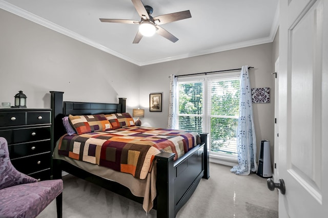
[[[8,148],[9,148],[10,158],[30,156],[30,155],[50,151],[50,140],[42,141],[42,142],[10,145],[8,146]]]

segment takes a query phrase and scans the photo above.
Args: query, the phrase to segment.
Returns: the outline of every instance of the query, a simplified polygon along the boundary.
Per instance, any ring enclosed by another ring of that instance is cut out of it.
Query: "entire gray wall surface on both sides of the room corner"
[[[143,125],[166,127],[170,74],[249,65],[255,67],[252,88],[271,88],[270,103],[253,104],[258,149],[263,138],[274,140],[273,43],[139,67],[1,9],[0,31],[0,102],[13,104],[19,90],[27,95],[29,108],[49,108],[51,90],[64,91],[65,101],[127,97],[128,112],[145,109]],[[149,112],[153,92],[163,93],[162,112]]]

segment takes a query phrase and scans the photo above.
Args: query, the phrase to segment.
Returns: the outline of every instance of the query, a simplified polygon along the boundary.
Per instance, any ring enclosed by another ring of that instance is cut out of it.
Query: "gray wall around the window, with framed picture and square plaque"
[[[142,123],[149,126],[166,127],[169,113],[169,75],[189,74],[215,70],[253,66],[250,70],[252,88],[270,87],[270,103],[253,104],[254,125],[259,151],[260,141],[274,142],[274,72],[272,43],[185,58],[141,67],[140,105],[149,107],[149,93],[163,93],[163,111],[145,112]],[[273,150],[271,152],[273,155]]]

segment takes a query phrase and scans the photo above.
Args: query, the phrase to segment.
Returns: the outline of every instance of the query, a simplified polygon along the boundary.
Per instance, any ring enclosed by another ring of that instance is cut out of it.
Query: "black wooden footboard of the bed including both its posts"
[[[201,139],[202,144],[176,162],[172,153],[156,155],[157,218],[175,217],[190,199],[201,178],[210,177],[207,133],[201,134]]]

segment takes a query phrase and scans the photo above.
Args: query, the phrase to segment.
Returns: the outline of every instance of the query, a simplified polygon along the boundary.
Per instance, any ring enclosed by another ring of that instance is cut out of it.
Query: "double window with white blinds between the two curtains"
[[[212,154],[237,155],[239,73],[178,80],[178,128],[209,132]]]

